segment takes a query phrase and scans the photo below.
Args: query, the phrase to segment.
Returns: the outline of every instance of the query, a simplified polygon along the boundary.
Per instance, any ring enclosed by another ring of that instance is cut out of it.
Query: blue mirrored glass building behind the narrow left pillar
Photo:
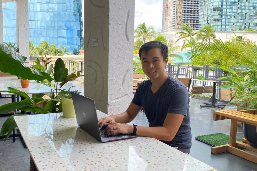
[[[84,43],[81,0],[29,0],[29,40],[80,49]],[[4,41],[16,42],[15,2],[3,3]]]

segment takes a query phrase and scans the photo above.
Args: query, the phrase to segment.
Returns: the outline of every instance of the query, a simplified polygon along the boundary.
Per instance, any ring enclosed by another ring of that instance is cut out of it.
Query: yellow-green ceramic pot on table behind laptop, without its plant
[[[75,117],[75,110],[74,110],[72,98],[62,98],[62,117],[63,118]]]

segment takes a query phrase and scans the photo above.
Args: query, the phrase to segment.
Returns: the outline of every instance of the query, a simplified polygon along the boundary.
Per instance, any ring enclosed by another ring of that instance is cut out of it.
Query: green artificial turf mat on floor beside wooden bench
[[[209,144],[213,147],[229,144],[229,135],[226,135],[223,133],[199,135],[199,136],[195,137],[195,139],[202,141],[206,144]],[[237,139],[237,141],[242,141],[242,140]]]

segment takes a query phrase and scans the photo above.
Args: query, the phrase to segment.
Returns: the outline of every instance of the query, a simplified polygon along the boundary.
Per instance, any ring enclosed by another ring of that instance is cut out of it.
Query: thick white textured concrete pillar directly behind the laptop
[[[107,114],[132,100],[134,0],[84,0],[84,95]]]

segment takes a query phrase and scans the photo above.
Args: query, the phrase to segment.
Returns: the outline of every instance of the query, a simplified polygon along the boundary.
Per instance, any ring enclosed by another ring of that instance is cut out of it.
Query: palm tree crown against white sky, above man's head
[[[155,37],[155,31],[152,26],[147,27],[145,23],[142,23],[137,26],[137,28],[134,31],[135,38],[141,39],[143,41],[143,44],[146,41],[151,41],[152,38]]]

